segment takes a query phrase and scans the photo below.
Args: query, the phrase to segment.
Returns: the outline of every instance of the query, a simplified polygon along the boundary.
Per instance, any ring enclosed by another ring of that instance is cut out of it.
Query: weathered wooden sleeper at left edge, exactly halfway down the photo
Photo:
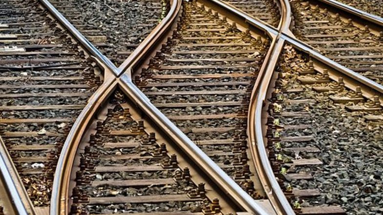
[[[20,105],[20,106],[0,106],[0,111],[30,111],[30,110],[81,110],[85,104],[68,105]]]

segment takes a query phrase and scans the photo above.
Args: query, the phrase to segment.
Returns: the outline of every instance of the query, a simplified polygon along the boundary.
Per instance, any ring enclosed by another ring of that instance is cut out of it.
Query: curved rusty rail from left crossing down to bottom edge
[[[110,76],[89,98],[88,103],[74,122],[57,162],[55,177],[52,185],[50,215],[67,215],[69,195],[69,181],[71,170],[81,138],[88,126],[88,122],[95,115],[98,108],[105,102],[107,96],[116,87],[116,78]]]

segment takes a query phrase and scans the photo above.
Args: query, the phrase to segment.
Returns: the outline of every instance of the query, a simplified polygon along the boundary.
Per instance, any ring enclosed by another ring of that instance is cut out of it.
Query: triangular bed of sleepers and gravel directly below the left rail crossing
[[[80,145],[69,214],[227,214],[225,194],[117,89]]]

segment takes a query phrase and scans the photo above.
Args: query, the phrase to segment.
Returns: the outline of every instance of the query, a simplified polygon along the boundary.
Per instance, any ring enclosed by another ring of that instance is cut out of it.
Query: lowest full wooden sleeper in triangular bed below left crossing
[[[169,201],[200,201],[200,198],[190,198],[186,194],[173,195],[141,195],[141,196],[111,196],[111,197],[90,197],[89,205],[92,204],[125,204],[129,203],[160,203]]]

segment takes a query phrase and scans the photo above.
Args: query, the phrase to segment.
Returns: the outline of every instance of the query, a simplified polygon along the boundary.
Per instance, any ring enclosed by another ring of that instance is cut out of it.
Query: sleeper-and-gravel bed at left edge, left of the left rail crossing
[[[37,1],[2,1],[0,19],[1,137],[33,206],[46,210],[66,135],[102,79]]]

